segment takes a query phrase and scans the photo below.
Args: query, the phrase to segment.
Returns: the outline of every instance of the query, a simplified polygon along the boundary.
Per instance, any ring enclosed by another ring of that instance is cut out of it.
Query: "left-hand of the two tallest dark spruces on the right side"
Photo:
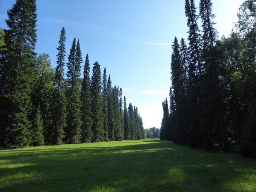
[[[185,14],[188,18],[187,26],[188,41],[189,41],[189,70],[188,70],[188,119],[190,122],[189,128],[189,144],[192,147],[202,147],[203,139],[199,128],[200,116],[200,77],[202,76],[202,62],[200,56],[201,39],[200,31],[197,25],[198,15],[196,15],[196,8],[194,0],[185,1]]]

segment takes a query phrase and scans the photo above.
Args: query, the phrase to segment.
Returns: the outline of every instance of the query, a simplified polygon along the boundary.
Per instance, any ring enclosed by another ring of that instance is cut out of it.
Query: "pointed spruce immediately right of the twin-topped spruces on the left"
[[[81,91],[82,101],[82,143],[90,143],[93,137],[93,131],[91,129],[92,118],[91,118],[91,82],[90,82],[90,64],[89,56],[86,54],[83,72],[83,82]]]

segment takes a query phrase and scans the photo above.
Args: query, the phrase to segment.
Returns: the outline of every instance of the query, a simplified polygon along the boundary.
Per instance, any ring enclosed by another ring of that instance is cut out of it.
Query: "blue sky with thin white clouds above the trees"
[[[231,33],[243,0],[212,0],[219,37]],[[0,0],[0,27],[15,0]],[[98,60],[127,103],[138,106],[144,128],[160,128],[162,101],[169,101],[171,44],[187,39],[185,0],[37,0],[37,53],[48,53],[52,66],[60,30],[67,33],[69,53],[79,38],[83,59]],[[199,0],[195,0],[196,7]],[[67,61],[67,59],[66,59]]]

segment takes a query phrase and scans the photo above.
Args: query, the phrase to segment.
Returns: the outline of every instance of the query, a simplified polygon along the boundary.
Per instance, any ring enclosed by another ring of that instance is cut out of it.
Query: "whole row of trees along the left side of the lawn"
[[[65,63],[66,33],[61,29],[57,66],[36,54],[35,0],[17,0],[0,30],[0,148],[145,139],[138,108],[123,100],[98,61],[90,77],[74,38]],[[66,78],[64,66],[67,65]]]

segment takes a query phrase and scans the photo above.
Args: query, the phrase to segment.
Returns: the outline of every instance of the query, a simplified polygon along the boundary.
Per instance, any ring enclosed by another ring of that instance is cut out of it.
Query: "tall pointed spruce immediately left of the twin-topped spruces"
[[[64,65],[65,65],[65,41],[66,32],[64,27],[61,29],[59,46],[57,47],[57,66],[55,68],[55,89],[53,93],[52,102],[52,129],[49,129],[48,142],[49,144],[62,144],[64,138],[64,128],[67,126],[67,99],[65,97],[65,79],[64,79]]]

